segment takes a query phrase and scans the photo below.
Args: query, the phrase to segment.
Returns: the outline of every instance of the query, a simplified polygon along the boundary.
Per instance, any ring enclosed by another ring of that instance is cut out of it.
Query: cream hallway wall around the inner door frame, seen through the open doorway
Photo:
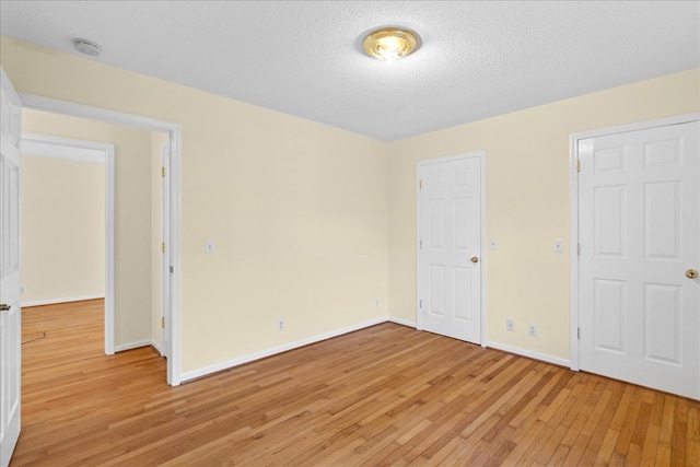
[[[22,129],[115,144],[115,346],[150,340],[151,132],[31,109]]]

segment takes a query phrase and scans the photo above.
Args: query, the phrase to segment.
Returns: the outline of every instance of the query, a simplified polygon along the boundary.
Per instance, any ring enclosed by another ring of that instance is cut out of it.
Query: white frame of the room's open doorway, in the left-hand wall
[[[170,212],[170,238],[171,245],[166,248],[167,258],[171,264],[171,313],[170,322],[165,323],[165,332],[168,332],[171,342],[171,354],[167,359],[167,383],[177,386],[180,378],[180,157],[182,157],[182,128],[178,124],[156,120],[139,115],[122,114],[104,108],[91,107],[81,104],[73,104],[65,101],[57,101],[48,97],[32,94],[20,94],[22,106],[36,110],[51,112],[55,114],[69,115],[73,117],[90,118],[93,120],[107,121],[110,124],[126,125],[151,131],[164,131],[170,136],[171,161],[170,174],[166,174],[171,187],[171,212]]]

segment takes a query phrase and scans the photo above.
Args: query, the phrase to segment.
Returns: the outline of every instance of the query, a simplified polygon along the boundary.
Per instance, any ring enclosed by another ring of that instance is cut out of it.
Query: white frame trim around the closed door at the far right
[[[700,114],[687,114],[676,117],[662,118],[658,120],[640,121],[637,124],[622,125],[618,127],[602,128],[581,133],[573,133],[569,137],[569,313],[570,313],[570,342],[571,342],[571,370],[579,371],[579,141],[588,138],[597,138],[607,135],[623,133],[628,131],[644,130],[648,128],[665,127],[668,125],[680,125],[700,119]]]

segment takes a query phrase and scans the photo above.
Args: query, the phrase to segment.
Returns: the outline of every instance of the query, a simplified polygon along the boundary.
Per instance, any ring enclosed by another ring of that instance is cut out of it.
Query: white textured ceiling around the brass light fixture
[[[0,1],[0,33],[381,140],[700,67],[698,1]],[[364,56],[378,26],[422,47]]]

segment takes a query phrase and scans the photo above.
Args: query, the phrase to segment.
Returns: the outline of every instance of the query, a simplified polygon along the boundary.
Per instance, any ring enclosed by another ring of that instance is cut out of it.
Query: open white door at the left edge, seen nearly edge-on
[[[22,104],[0,68],[0,466],[20,436],[20,133]]]

